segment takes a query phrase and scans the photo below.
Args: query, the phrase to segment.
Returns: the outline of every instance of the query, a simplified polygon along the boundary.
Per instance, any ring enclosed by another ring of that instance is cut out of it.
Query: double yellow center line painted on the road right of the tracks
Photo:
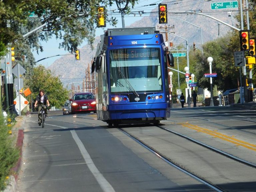
[[[179,123],[179,124],[183,125],[183,126],[185,126],[187,128],[194,129],[196,131],[199,131],[199,132],[202,132],[202,133],[206,133],[208,135],[212,135],[214,137],[220,138],[220,139],[228,141],[230,143],[234,143],[236,145],[240,145],[240,146],[243,146],[245,148],[248,148],[248,149],[256,151],[256,145],[254,145],[254,144],[251,144],[251,143],[239,140],[239,139],[235,139],[233,137],[230,137],[228,135],[224,135],[222,133],[218,133],[216,131],[211,131],[209,129],[202,128],[202,127],[199,127],[197,125],[192,125],[192,124],[189,124],[188,122],[186,122],[186,123]]]

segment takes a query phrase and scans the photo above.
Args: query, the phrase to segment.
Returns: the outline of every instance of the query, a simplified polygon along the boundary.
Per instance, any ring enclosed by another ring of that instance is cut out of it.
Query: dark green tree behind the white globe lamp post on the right
[[[217,40],[204,44],[204,54],[200,52],[190,52],[195,65],[195,76],[198,85],[202,88],[210,88],[209,78],[204,77],[205,73],[210,73],[208,57],[213,58],[212,73],[217,73],[217,77],[213,78],[213,86],[217,85],[218,90],[227,90],[238,87],[239,69],[234,65],[234,51],[239,47],[239,40],[235,46],[231,46],[231,35],[226,35]]]

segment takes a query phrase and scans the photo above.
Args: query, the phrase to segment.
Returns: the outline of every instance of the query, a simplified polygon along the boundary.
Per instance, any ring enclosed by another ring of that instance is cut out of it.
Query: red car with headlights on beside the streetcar
[[[71,113],[77,112],[91,112],[96,113],[96,99],[90,92],[88,93],[75,93],[70,99]]]

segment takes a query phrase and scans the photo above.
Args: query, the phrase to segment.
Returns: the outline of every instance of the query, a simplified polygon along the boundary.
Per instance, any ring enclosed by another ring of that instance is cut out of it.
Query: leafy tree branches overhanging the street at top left
[[[130,0],[132,6],[138,0]],[[0,53],[9,43],[22,38],[26,31],[23,26],[30,27],[31,12],[38,15],[40,24],[47,25],[40,30],[38,38],[47,41],[51,36],[63,39],[59,45],[73,52],[84,39],[92,46],[95,27],[98,21],[99,5],[112,5],[114,0],[2,0],[0,1]],[[129,10],[129,8],[127,8]],[[116,18],[106,17],[107,22],[116,24]],[[38,25],[38,26],[39,26]],[[33,44],[32,44],[33,46]],[[38,46],[35,46],[38,50]],[[0,55],[1,56],[1,55]]]

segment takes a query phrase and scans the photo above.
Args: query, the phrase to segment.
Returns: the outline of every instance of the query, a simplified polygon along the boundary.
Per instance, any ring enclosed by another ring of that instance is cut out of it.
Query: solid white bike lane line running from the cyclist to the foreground
[[[50,125],[54,127],[60,127],[62,129],[69,129],[68,127],[63,127],[63,126],[58,126],[58,125],[51,125],[51,124],[45,124],[45,125]],[[110,185],[110,183],[105,179],[105,177],[99,172],[95,164],[93,163],[90,154],[87,152],[85,149],[82,141],[79,139],[78,135],[76,134],[76,131],[70,130],[73,139],[75,140],[84,160],[85,163],[87,164],[88,168],[90,169],[91,173],[99,183],[101,189],[105,192],[115,192],[114,188]]]

